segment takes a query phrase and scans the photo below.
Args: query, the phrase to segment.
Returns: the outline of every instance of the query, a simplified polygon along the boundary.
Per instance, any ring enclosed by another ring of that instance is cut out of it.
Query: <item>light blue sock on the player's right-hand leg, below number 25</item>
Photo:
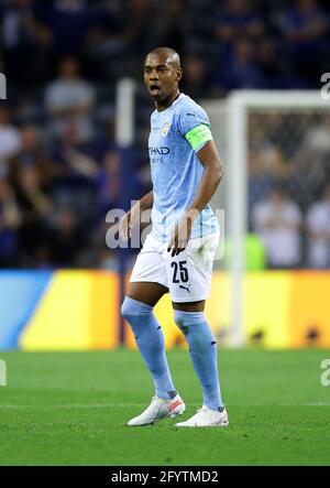
[[[193,365],[201,383],[204,404],[213,410],[223,409],[218,377],[217,343],[204,312],[176,310],[174,319],[187,339]]]

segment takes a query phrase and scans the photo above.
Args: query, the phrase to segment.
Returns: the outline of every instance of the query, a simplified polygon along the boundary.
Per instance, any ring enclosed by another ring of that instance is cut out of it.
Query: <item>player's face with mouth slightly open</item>
[[[157,102],[165,100],[178,88],[182,72],[165,55],[151,54],[144,63],[144,84]]]

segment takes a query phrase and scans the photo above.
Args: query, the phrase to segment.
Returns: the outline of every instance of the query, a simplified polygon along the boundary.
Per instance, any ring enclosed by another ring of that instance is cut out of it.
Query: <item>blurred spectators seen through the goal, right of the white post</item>
[[[249,215],[272,268],[330,268],[330,113],[251,113]]]

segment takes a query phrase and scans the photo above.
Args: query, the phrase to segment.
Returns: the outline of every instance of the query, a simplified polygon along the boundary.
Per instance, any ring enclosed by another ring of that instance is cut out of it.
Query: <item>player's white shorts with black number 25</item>
[[[160,242],[150,234],[134,264],[131,282],[148,281],[169,289],[173,302],[206,300],[211,288],[219,232],[189,239],[178,256],[167,252],[168,242]]]

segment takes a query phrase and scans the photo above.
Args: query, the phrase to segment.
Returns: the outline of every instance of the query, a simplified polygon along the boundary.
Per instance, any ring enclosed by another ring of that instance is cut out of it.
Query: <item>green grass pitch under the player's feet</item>
[[[152,382],[130,350],[0,353],[0,465],[330,465],[330,350],[220,350],[230,426],[176,429],[176,420],[128,427]],[[188,419],[200,389],[186,350],[170,350]]]

